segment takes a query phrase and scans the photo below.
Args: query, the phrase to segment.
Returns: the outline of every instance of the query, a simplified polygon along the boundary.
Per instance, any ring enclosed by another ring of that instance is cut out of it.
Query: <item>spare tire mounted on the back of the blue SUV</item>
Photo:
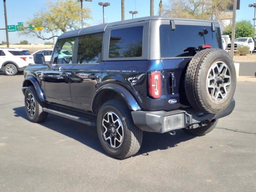
[[[214,68],[219,64],[218,68]],[[221,67],[222,70],[219,72]],[[216,69],[218,71],[214,72],[213,80],[210,82],[210,86],[216,86],[216,88],[209,88],[208,80],[212,78],[209,77],[211,76],[210,72]],[[226,78],[228,74],[230,77]],[[226,81],[230,82],[229,86],[224,86]],[[224,50],[202,50],[188,64],[185,74],[185,91],[188,101],[194,109],[212,114],[222,112],[230,104],[235,88],[236,70],[230,55]]]

